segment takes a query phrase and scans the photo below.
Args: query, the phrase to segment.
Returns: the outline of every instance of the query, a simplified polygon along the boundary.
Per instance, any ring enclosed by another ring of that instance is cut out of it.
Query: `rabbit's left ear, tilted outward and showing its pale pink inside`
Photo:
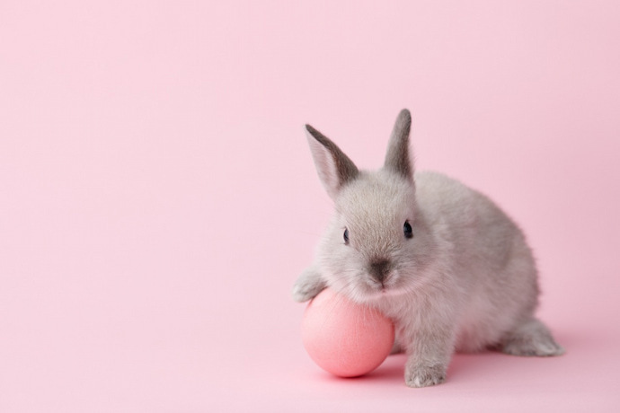
[[[335,199],[340,189],[359,175],[358,167],[327,136],[306,125],[308,144],[316,171],[327,194]]]

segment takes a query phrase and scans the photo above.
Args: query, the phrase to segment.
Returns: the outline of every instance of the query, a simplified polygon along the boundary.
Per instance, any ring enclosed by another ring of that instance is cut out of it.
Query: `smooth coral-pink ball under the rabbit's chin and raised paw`
[[[392,321],[329,288],[308,304],[301,334],[314,363],[341,377],[375,370],[394,345]]]

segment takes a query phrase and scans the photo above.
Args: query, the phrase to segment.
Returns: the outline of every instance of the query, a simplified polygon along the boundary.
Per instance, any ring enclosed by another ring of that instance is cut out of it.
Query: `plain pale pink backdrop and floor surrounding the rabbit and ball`
[[[620,410],[620,3],[217,3],[0,4],[0,411]],[[565,356],[306,356],[302,125],[374,168],[403,107],[525,229]]]

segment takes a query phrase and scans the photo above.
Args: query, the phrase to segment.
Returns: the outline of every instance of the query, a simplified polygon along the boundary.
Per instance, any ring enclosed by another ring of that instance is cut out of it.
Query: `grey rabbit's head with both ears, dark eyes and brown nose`
[[[341,149],[306,125],[308,143],[335,214],[317,251],[329,286],[358,302],[411,291],[429,256],[430,235],[416,208],[411,115],[402,110],[385,164],[360,171]]]

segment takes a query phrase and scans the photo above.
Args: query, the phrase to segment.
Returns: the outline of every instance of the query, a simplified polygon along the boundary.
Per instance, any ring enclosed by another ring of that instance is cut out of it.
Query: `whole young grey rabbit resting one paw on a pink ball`
[[[378,171],[359,170],[306,125],[335,214],[293,298],[306,302],[329,286],[383,312],[394,321],[394,352],[407,355],[410,387],[445,382],[455,351],[562,355],[534,315],[537,270],[524,234],[482,193],[414,171],[411,123],[402,110]]]

